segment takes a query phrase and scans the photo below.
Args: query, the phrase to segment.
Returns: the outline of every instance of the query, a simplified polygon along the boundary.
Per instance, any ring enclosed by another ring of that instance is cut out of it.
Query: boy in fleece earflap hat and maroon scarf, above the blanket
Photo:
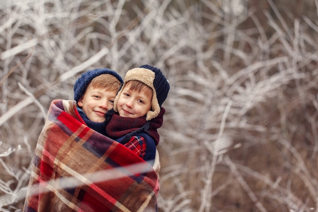
[[[160,69],[143,65],[129,70],[119,90],[114,108],[106,114],[106,136],[127,146],[152,165],[157,129],[163,125],[162,104],[170,85]]]

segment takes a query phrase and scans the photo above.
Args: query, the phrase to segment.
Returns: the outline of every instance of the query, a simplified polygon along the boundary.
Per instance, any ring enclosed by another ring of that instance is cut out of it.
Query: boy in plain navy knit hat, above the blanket
[[[85,124],[105,135],[105,114],[113,108],[122,78],[110,69],[87,71],[74,84],[74,100]]]

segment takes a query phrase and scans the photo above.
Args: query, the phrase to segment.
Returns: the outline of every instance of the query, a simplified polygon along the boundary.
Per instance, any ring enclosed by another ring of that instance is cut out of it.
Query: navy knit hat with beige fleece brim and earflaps
[[[129,70],[124,78],[123,85],[119,90],[115,101],[114,101],[114,110],[117,110],[117,103],[120,94],[122,93],[123,87],[128,81],[136,80],[144,83],[145,85],[149,86],[152,89],[152,100],[151,100],[151,111],[148,111],[146,114],[146,120],[151,120],[155,118],[160,113],[160,108],[164,101],[168,96],[168,92],[170,89],[169,81],[160,71],[160,69],[149,66],[143,65],[139,68],[134,68]]]

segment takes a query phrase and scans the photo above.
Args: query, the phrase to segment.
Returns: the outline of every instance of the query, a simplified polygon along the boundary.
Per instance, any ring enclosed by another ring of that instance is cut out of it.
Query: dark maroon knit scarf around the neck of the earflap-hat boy
[[[157,129],[163,125],[165,109],[161,107],[157,117],[146,121],[146,116],[139,118],[121,117],[114,113],[106,125],[106,135],[112,139],[117,139],[125,135],[133,136],[139,129],[149,134],[155,145],[158,145],[160,136]],[[149,128],[148,128],[149,127]]]

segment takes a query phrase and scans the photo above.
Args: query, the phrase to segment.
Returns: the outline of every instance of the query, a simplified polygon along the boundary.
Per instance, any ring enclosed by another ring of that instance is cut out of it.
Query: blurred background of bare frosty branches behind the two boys
[[[318,211],[318,0],[0,2],[0,211],[53,99],[93,68],[171,84],[161,212]]]

